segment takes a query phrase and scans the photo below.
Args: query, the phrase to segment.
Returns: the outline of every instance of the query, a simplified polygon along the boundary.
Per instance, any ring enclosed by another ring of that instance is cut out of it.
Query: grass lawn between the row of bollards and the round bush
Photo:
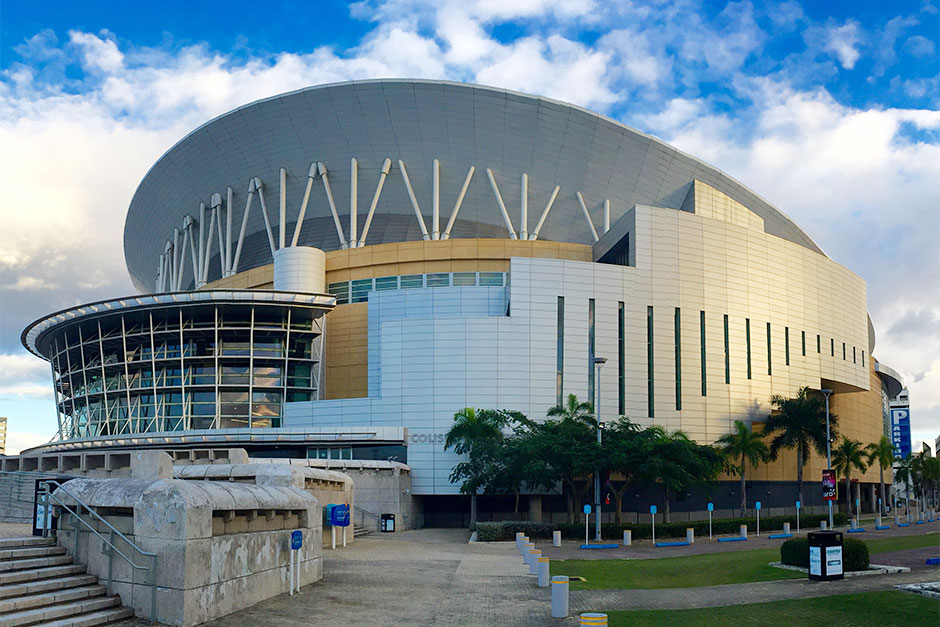
[[[729,551],[646,560],[562,560],[550,565],[552,575],[584,577],[572,590],[610,588],[697,588],[726,583],[801,579],[803,573],[768,566],[780,551]]]

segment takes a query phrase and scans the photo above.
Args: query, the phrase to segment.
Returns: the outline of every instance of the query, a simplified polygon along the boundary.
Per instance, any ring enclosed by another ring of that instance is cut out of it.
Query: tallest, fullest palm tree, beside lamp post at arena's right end
[[[819,396],[810,394],[808,387],[797,391],[796,398],[774,394],[770,398],[774,411],[764,424],[764,435],[771,436],[770,459],[776,460],[780,449],[796,449],[796,480],[799,500],[803,501],[803,467],[809,461],[809,449],[826,454],[826,405]],[[836,436],[838,420],[829,414],[832,436]]]

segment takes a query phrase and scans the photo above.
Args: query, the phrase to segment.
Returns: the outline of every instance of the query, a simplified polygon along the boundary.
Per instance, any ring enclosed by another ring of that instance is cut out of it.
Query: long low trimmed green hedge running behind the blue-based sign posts
[[[676,514],[681,516],[681,514]],[[800,516],[800,525],[803,529],[818,527],[819,521],[827,520],[828,514],[806,514]],[[792,516],[768,516],[761,517],[761,533],[770,531],[779,531],[783,529],[783,523],[788,522],[794,526],[795,518]],[[836,525],[845,525],[848,523],[848,516],[844,513],[835,514],[833,522]],[[737,534],[741,525],[747,525],[748,531],[754,533],[757,530],[757,522],[754,518],[722,518],[712,522],[712,533],[715,535]],[[694,522],[673,522],[656,523],[657,538],[684,538],[685,530],[691,527],[695,530],[695,537],[708,537],[708,521],[697,520]],[[615,523],[605,523],[601,525],[601,537],[607,540],[619,540],[623,537],[624,530],[629,529],[633,532],[634,540],[651,538],[653,535],[652,525],[649,523],[624,523],[618,525]],[[515,540],[516,532],[521,531],[532,539],[550,539],[552,531],[561,531],[561,537],[566,540],[578,540],[584,538],[584,523],[536,523],[525,520],[503,520],[499,522],[478,522],[474,527],[477,532],[479,542],[499,542],[505,540]],[[594,521],[591,521],[590,538],[594,539]]]

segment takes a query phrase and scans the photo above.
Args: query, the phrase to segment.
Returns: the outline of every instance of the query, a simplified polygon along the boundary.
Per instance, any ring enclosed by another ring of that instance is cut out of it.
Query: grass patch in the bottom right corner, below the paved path
[[[608,612],[610,625],[936,625],[940,601],[891,590],[695,610]]]

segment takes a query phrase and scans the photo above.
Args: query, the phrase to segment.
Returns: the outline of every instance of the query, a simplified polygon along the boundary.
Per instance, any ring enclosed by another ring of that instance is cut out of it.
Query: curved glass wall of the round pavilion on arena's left
[[[284,402],[320,398],[329,308],[194,300],[56,325],[61,437],[279,427]]]

